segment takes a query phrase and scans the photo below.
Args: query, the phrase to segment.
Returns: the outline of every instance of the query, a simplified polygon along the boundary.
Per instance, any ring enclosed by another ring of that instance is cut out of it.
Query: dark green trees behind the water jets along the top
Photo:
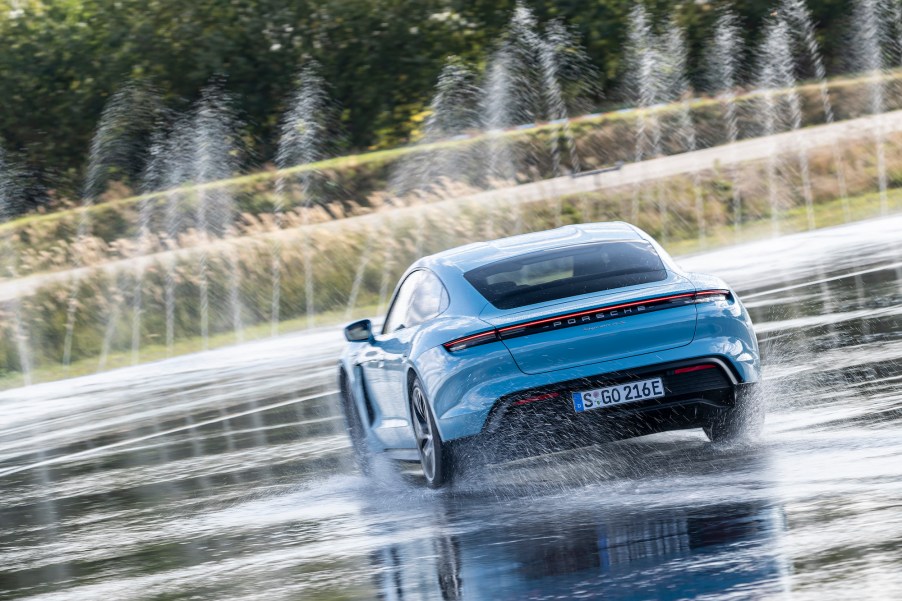
[[[632,4],[527,2],[539,19],[562,18],[577,30],[609,102],[617,98]],[[660,18],[676,11],[688,28],[699,80],[697,58],[717,9],[728,3],[648,4]],[[828,64],[838,66],[849,0],[810,4]],[[749,41],[770,5],[735,2]],[[76,196],[103,106],[125,82],[150,81],[169,107],[184,109],[211,77],[225,76],[248,124],[243,135],[266,160],[274,155],[295,73],[315,59],[343,107],[347,146],[394,146],[416,128],[445,58],[483,65],[513,6],[513,0],[0,0],[0,139],[51,188]]]

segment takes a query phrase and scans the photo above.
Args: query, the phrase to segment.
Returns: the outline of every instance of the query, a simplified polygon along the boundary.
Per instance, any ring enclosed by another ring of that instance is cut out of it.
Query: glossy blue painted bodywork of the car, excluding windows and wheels
[[[468,269],[488,261],[535,252],[549,245],[566,246],[612,237],[652,243],[667,268],[666,280],[500,311],[463,277]],[[420,259],[400,281],[416,269],[428,269],[441,279],[450,297],[447,310],[419,326],[377,334],[368,342],[349,343],[341,357],[341,369],[351,381],[360,415],[368,416],[366,426],[377,450],[415,448],[408,398],[411,377],[423,383],[444,441],[480,434],[501,397],[557,382],[704,357],[723,360],[743,383],[759,380],[758,344],[748,312],[735,292],[714,276],[682,271],[660,245],[628,224],[567,226],[452,249]],[[611,343],[604,337],[593,337],[595,330],[583,332],[589,326],[579,325],[453,353],[442,346],[496,326],[558,315],[597,302],[715,289],[729,291],[730,298],[609,322],[598,332],[608,328],[616,332],[616,340]]]

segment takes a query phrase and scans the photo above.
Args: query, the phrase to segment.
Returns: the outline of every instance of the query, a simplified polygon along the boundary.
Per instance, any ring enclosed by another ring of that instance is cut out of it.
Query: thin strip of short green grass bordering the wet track
[[[889,190],[887,193],[887,205],[892,211],[902,210],[902,189]],[[847,200],[834,199],[822,202],[814,206],[815,224],[818,228],[830,227],[847,223],[847,214],[852,221],[859,221],[877,217],[881,214],[882,207],[880,194],[877,192],[863,194]],[[805,207],[796,207],[785,211],[779,219],[781,234],[802,232],[808,229]],[[666,246],[674,255],[685,255],[703,250],[710,251],[731,244],[760,240],[772,235],[773,223],[769,218],[744,223],[737,235],[732,226],[720,225],[707,232],[704,243],[696,238],[674,239]],[[351,319],[372,316],[377,312],[375,305],[357,307],[350,315]],[[328,311],[317,313],[314,316],[313,325],[337,326],[348,320],[345,311]],[[295,318],[283,321],[279,324],[280,333],[298,332],[307,328],[307,318]],[[271,325],[261,323],[248,326],[243,331],[244,342],[264,340],[270,336]],[[207,349],[217,349],[237,344],[234,333],[223,333],[211,336],[206,341]],[[204,350],[204,341],[200,337],[179,339],[172,349],[165,345],[148,345],[141,348],[140,362],[149,363],[169,357],[176,357]],[[105,369],[116,369],[132,365],[131,352],[120,351],[111,353],[106,358]],[[62,365],[41,366],[32,372],[32,382],[51,382],[70,377],[83,376],[99,371],[99,357],[86,358],[74,362],[68,369]],[[24,385],[24,378],[20,373],[8,373],[0,376],[0,390],[7,390]]]

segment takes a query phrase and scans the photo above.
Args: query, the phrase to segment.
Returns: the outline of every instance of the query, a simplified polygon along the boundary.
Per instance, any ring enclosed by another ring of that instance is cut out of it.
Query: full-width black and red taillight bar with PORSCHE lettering
[[[442,346],[453,353],[474,346],[513,338],[515,336],[525,336],[527,334],[556,330],[584,323],[609,321],[611,319],[619,319],[621,317],[638,315],[640,313],[650,313],[673,307],[682,307],[695,303],[728,300],[729,298],[730,291],[724,289],[698,290],[696,292],[656,296],[640,301],[606,305],[594,309],[576,311],[574,313],[565,313],[564,315],[557,315],[554,317],[543,317],[542,319],[526,321],[505,326],[503,328],[486,330],[463,338],[457,338],[444,343]]]

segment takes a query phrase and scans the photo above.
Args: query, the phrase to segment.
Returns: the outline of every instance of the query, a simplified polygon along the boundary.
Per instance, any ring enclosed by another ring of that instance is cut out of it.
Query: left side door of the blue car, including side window
[[[406,365],[419,328],[448,307],[448,293],[441,280],[425,269],[410,273],[392,300],[382,332],[375,336],[361,363],[367,390],[380,408],[386,438],[389,430],[409,430],[405,394]],[[389,440],[385,440],[389,443]]]

